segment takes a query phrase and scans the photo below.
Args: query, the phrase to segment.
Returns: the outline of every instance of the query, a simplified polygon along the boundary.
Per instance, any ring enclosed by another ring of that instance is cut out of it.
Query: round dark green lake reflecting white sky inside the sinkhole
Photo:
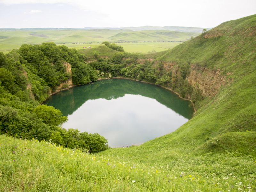
[[[99,133],[110,147],[139,145],[168,134],[193,116],[187,100],[162,87],[128,79],[107,79],[50,96],[45,104],[68,121],[62,127]]]

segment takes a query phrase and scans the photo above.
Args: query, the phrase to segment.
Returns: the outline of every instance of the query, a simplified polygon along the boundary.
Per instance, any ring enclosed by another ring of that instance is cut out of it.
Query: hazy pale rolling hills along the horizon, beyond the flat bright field
[[[101,43],[103,41],[186,41],[191,36],[197,36],[195,32],[179,31],[132,31],[128,29],[56,29],[56,28],[30,28],[10,29],[0,28],[0,51],[8,52],[13,48],[19,48],[21,44],[41,44],[54,42],[56,44],[88,44]],[[82,46],[83,47],[83,46]],[[82,48],[81,47],[81,48]],[[152,51],[152,49],[151,49]]]

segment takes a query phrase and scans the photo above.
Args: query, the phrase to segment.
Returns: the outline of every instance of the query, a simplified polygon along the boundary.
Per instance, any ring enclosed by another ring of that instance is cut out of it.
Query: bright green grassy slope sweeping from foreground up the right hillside
[[[209,86],[214,78],[226,82],[204,95],[194,117],[171,134],[95,155],[1,136],[0,190],[255,191],[255,29],[252,15],[145,56],[188,68],[184,82],[192,74],[199,90],[206,80]],[[218,76],[202,80],[193,71]]]

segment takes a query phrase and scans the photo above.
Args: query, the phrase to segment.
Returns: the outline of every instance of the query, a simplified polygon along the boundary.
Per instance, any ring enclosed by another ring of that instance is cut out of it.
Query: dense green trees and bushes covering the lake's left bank
[[[104,137],[62,129],[58,125],[67,117],[53,107],[39,105],[71,78],[65,62],[71,65],[74,85],[97,80],[96,70],[84,63],[83,56],[65,46],[43,43],[22,45],[7,55],[0,52],[0,133],[51,140],[91,153],[106,150],[108,142]]]

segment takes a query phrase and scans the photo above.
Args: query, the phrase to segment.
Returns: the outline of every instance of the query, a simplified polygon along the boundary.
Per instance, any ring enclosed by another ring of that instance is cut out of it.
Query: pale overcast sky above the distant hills
[[[256,0],[0,0],[0,28],[208,28],[253,14]]]

